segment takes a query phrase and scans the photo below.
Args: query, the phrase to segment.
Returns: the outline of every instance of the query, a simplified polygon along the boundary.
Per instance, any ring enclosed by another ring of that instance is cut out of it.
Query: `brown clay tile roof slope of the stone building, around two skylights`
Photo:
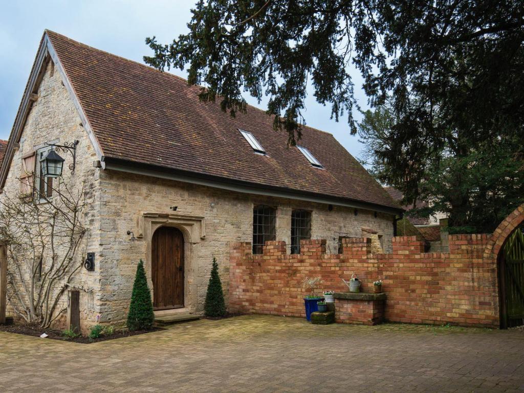
[[[107,162],[121,159],[163,170],[191,172],[257,187],[328,195],[398,209],[396,201],[329,133],[303,127],[299,144],[323,169],[313,167],[285,131],[253,106],[235,118],[199,100],[200,87],[171,73],[46,31]],[[266,150],[257,155],[238,129]],[[196,176],[196,175],[195,175]]]

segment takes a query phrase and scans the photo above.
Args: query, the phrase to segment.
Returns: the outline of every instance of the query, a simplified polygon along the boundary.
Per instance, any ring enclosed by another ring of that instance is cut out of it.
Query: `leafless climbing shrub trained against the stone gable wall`
[[[58,180],[53,198],[0,198],[0,239],[7,249],[7,299],[13,310],[41,328],[67,310],[63,294],[83,266],[81,244],[86,201]],[[51,185],[49,185],[51,187]],[[45,198],[46,203],[39,203]]]

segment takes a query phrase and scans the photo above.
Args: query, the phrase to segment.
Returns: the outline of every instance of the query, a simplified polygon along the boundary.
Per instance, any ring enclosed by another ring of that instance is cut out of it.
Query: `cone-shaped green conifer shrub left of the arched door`
[[[147,287],[146,271],[142,260],[136,268],[135,283],[131,295],[131,304],[127,313],[127,328],[129,330],[149,330],[153,325],[155,314],[151,302],[151,292]]]

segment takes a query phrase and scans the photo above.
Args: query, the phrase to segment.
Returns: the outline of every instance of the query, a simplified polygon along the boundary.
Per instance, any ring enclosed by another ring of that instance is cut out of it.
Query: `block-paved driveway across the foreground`
[[[0,332],[0,392],[524,392],[524,332],[245,315],[77,344]]]

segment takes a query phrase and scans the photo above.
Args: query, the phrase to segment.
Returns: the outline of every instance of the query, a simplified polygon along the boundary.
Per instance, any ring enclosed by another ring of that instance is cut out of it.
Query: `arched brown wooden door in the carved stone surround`
[[[162,226],[151,239],[153,307],[184,307],[184,236],[177,228]]]

